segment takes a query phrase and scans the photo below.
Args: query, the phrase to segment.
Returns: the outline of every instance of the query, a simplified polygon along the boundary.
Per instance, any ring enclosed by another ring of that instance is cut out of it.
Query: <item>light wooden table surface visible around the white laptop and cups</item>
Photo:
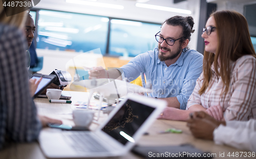
[[[38,114],[46,115],[48,117],[61,119],[64,124],[73,125],[72,115],[70,114],[75,108],[76,101],[87,101],[88,94],[86,92],[70,92],[72,95],[72,104],[68,103],[50,103],[47,98],[36,98],[35,103],[38,109]],[[105,114],[106,115],[106,114]],[[102,116],[104,116],[102,114]],[[95,126],[96,127],[96,126]],[[92,129],[95,128],[92,125]],[[176,128],[183,131],[182,134],[159,134],[159,131],[167,128]],[[50,130],[50,128],[48,128]],[[212,141],[195,139],[186,122],[182,121],[169,121],[169,120],[156,120],[152,126],[147,130],[148,135],[142,136],[138,142],[141,146],[175,146],[181,144],[191,144],[202,151],[216,153],[215,158],[249,158],[249,157],[228,157],[234,152],[247,152],[239,150],[230,146],[216,145]],[[239,140],[239,139],[238,139]],[[220,153],[225,153],[225,157],[220,157]],[[240,153],[241,154],[241,153]],[[38,142],[33,143],[11,143],[5,149],[0,151],[1,159],[45,159]],[[132,152],[120,158],[141,158]],[[254,158],[254,157],[252,157]]]

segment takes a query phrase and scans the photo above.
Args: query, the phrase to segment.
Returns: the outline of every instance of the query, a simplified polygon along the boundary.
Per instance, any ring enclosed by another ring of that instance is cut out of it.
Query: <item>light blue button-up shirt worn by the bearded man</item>
[[[179,59],[169,67],[158,59],[158,48],[147,51],[133,58],[121,67],[124,77],[129,82],[135,80],[141,72],[146,75],[146,82],[151,82],[151,97],[177,97],[180,109],[185,110],[187,99],[193,92],[197,78],[203,71],[203,55],[196,50],[181,53]]]

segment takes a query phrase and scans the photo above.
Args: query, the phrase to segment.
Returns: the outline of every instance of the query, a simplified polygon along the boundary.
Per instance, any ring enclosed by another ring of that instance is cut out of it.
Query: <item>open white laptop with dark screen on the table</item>
[[[166,107],[166,102],[127,95],[95,131],[42,130],[39,144],[48,158],[125,155]]]

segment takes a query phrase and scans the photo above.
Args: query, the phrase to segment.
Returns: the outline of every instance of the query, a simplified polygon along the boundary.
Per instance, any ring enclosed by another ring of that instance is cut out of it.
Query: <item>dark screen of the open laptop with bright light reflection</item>
[[[133,135],[154,110],[129,99],[102,130],[123,145],[127,141],[134,142]]]

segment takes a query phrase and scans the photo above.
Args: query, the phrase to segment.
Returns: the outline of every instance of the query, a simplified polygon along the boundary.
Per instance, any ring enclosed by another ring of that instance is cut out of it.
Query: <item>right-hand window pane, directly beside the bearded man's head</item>
[[[111,19],[109,54],[135,57],[157,47],[160,24]]]

